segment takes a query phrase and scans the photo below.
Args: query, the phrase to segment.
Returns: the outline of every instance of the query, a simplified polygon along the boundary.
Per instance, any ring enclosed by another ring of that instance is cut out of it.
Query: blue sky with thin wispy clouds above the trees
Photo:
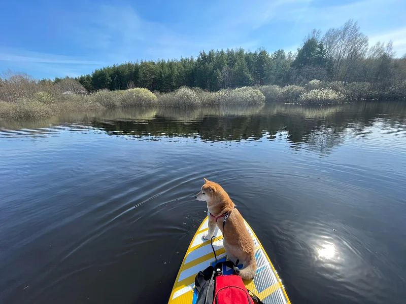
[[[370,44],[406,53],[404,0],[8,1],[0,10],[0,71],[75,77],[137,59],[243,47],[295,51],[313,28],[352,18]]]

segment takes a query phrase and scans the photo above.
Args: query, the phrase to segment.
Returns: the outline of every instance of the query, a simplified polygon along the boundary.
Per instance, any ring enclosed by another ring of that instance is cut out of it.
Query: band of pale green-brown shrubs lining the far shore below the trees
[[[145,88],[99,90],[89,94],[72,79],[58,84],[36,82],[16,74],[0,79],[0,118],[35,119],[71,111],[119,107],[200,107],[206,105],[253,105],[272,101],[301,104],[331,104],[357,99],[398,99],[406,96],[406,82],[385,95],[368,83],[321,82],[312,80],[304,86],[276,85],[222,89],[216,92],[181,87],[170,93],[151,92]],[[396,98],[397,97],[397,98]]]

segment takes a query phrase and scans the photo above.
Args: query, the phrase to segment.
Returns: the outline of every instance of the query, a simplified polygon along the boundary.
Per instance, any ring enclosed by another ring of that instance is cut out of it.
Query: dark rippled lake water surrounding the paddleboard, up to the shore
[[[0,302],[166,303],[219,182],[292,303],[404,303],[406,102],[0,121]]]

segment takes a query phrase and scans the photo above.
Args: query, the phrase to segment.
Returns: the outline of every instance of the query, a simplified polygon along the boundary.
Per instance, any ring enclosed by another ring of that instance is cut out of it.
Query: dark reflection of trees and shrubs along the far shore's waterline
[[[404,102],[359,102],[344,105],[300,106],[261,104],[249,107],[112,109],[67,114],[33,122],[0,122],[13,129],[6,136],[47,136],[54,126],[69,129],[97,128],[129,139],[198,137],[207,141],[274,140],[286,136],[292,149],[306,148],[328,154],[348,132],[365,137],[373,126],[405,123]],[[24,128],[24,131],[16,129]],[[305,144],[305,145],[303,145]]]

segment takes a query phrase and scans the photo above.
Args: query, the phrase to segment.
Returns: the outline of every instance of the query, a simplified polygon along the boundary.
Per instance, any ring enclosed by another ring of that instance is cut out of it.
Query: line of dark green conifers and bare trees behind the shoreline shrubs
[[[369,46],[353,20],[324,34],[313,30],[294,54],[260,48],[201,51],[197,58],[125,62],[96,69],[77,80],[89,92],[136,87],[170,92],[182,86],[207,91],[263,85],[303,85],[313,79],[369,83],[371,90],[405,86],[406,57],[396,58],[392,42]],[[44,80],[45,81],[45,80]],[[56,78],[54,82],[61,79]]]

